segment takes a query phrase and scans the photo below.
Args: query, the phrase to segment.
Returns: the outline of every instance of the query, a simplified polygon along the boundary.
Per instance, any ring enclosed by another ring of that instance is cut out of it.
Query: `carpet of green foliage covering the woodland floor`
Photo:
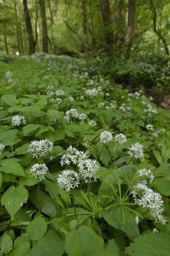
[[[104,73],[109,70],[101,59],[34,54],[18,57],[10,66],[3,63],[2,74],[8,69],[14,79],[19,76],[21,80],[23,75],[36,79],[27,85],[15,84],[13,79],[9,98],[7,82],[0,91],[4,145],[0,145],[0,255],[138,255],[144,248],[138,241],[151,241],[155,228],[167,236],[169,115],[156,108],[142,90],[129,94],[108,80]],[[39,74],[42,82],[38,82]],[[89,96],[89,89],[96,95]],[[64,94],[57,95],[59,90]],[[70,114],[68,120],[70,110],[76,114]],[[25,124],[13,126],[14,115],[23,115]],[[113,137],[105,144],[100,139],[104,131]],[[120,133],[127,138],[122,144],[116,141]],[[45,148],[45,139],[51,142],[51,150]],[[43,146],[38,146],[38,152],[44,154],[33,157],[35,148],[28,152],[29,145],[40,140]],[[144,150],[139,158],[128,154],[135,143]],[[72,150],[78,152],[77,158]],[[46,171],[40,178],[32,169],[44,165]],[[89,173],[95,168],[96,172],[85,180],[88,165]],[[137,177],[140,169],[150,169],[154,175],[153,182],[147,184],[162,196],[164,224],[134,201],[134,186],[144,180]],[[79,176],[77,186],[73,183],[68,191],[64,187],[68,181],[63,186],[59,182],[63,170]]]

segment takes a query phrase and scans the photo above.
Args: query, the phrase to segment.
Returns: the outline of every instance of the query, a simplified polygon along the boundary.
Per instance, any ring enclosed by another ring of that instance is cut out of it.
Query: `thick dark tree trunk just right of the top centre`
[[[103,27],[105,33],[106,49],[107,52],[112,52],[113,49],[113,33],[112,21],[109,7],[109,0],[101,0],[101,13],[103,18]]]

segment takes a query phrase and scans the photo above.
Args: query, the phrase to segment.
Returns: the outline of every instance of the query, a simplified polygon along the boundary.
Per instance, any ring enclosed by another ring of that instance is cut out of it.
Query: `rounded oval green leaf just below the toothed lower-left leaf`
[[[31,221],[26,227],[26,233],[31,240],[39,240],[44,236],[47,230],[47,223],[44,218],[38,215],[33,221]]]

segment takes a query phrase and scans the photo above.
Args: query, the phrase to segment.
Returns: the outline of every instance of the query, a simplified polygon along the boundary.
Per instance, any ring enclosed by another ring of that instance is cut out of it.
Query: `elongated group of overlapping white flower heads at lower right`
[[[140,177],[143,175],[144,178],[146,178],[146,175],[148,174],[147,178],[149,178],[150,181],[153,180],[151,171],[147,172],[145,169],[139,170],[137,177],[139,177],[139,174]],[[154,192],[152,189],[148,188],[146,180],[142,182],[139,181],[139,183],[134,186],[132,196],[135,203],[137,203],[139,206],[143,206],[143,208],[146,207],[149,210],[149,213],[155,218],[156,222],[160,222],[163,225],[166,224],[166,220],[163,216],[164,201],[162,200],[162,196],[158,192]]]

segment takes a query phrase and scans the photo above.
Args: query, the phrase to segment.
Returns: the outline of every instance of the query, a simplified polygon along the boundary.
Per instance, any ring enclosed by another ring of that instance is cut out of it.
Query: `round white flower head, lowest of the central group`
[[[57,183],[59,183],[60,188],[65,189],[67,192],[70,189],[76,189],[78,187],[79,175],[73,170],[63,170],[62,174],[58,175]]]

